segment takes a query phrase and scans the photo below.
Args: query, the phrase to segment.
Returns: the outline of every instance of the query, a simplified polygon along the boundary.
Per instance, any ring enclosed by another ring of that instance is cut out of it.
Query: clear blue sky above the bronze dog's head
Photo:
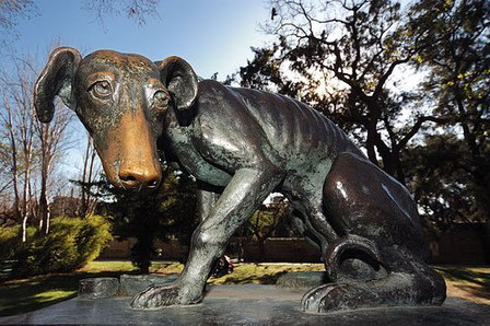
[[[96,49],[137,53],[152,60],[176,55],[186,59],[202,78],[218,72],[223,80],[253,57],[250,46],[260,46],[267,36],[258,24],[269,19],[262,0],[161,0],[160,19],[138,24],[125,14],[106,16],[101,26],[84,1],[38,0],[37,15],[21,20],[19,38],[11,42],[19,54],[37,55],[40,65],[56,45],[78,48],[82,55]],[[3,49],[4,54],[12,51]],[[0,56],[0,65],[9,65]],[[80,175],[86,145],[83,126],[72,125],[75,145],[66,153],[61,173]]]

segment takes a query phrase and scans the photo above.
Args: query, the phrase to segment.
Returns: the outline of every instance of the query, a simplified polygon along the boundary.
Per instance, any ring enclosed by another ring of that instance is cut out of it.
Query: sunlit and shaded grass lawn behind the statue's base
[[[182,264],[154,263],[152,272],[180,272]],[[448,295],[490,305],[490,267],[436,267],[447,283]],[[322,264],[236,264],[233,273],[211,278],[217,284],[273,284],[289,271],[323,270]],[[133,273],[129,261],[92,261],[71,273],[38,276],[0,283],[0,316],[38,310],[77,295],[79,281],[90,277],[118,277]]]

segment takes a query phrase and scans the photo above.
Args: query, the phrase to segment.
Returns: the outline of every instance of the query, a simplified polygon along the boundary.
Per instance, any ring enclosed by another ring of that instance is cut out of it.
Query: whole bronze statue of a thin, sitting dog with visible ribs
[[[68,47],[51,54],[34,93],[44,123],[56,95],[77,113],[116,187],[158,187],[159,160],[177,162],[198,182],[201,221],[184,271],[171,286],[135,296],[132,307],[200,302],[230,236],[272,191],[300,212],[295,225],[320,248],[331,281],[303,296],[304,311],[444,301],[444,280],[423,263],[408,190],[308,106],[198,82],[177,57],[152,62],[100,50],[82,59]]]

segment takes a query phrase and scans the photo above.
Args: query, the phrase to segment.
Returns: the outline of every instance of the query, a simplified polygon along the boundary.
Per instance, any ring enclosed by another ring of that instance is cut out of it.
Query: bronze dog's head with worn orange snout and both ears
[[[109,182],[118,188],[155,188],[161,181],[156,139],[168,109],[187,109],[197,97],[197,75],[178,57],[145,57],[98,50],[81,58],[55,49],[37,79],[37,117],[49,123],[55,96],[72,108],[94,139]]]

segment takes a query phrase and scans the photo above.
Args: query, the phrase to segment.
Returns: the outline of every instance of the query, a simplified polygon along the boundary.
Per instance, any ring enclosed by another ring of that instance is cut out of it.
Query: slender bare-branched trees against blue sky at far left
[[[49,187],[61,153],[70,145],[66,131],[72,113],[59,107],[51,124],[40,124],[32,93],[38,75],[35,60],[25,56],[11,63],[11,72],[3,70],[0,79],[0,123],[5,132],[0,160],[8,171],[2,191],[12,193],[15,220],[22,223],[25,242],[30,219],[39,219],[39,228],[48,231]]]

